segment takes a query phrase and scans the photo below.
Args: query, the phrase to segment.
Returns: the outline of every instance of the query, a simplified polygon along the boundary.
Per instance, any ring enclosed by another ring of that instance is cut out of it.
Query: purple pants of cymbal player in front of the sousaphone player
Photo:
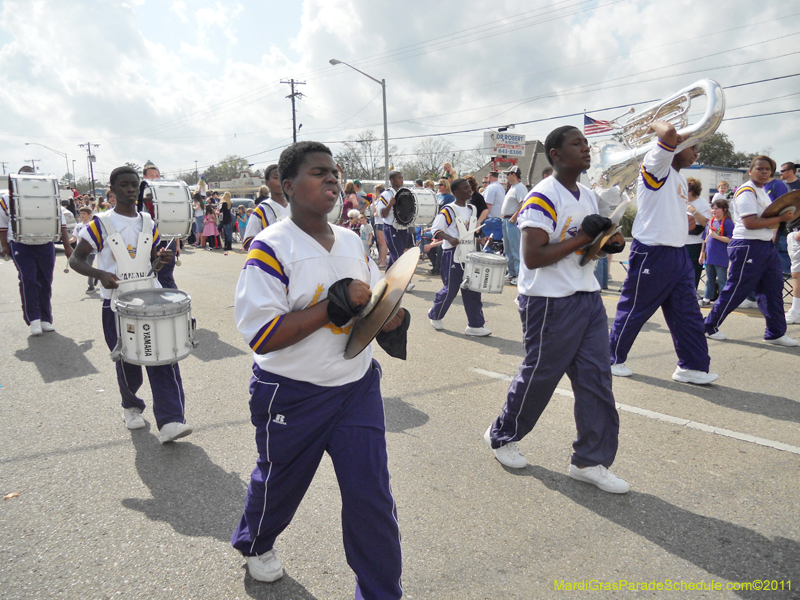
[[[492,447],[525,437],[566,374],[575,394],[572,464],[610,467],[617,455],[619,415],[611,391],[608,321],[599,292],[566,298],[519,296],[525,359],[492,425]]]

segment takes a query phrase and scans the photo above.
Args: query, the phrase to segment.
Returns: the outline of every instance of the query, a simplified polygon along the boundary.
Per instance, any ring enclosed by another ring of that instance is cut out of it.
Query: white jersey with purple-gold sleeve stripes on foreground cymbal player
[[[263,370],[315,385],[333,387],[357,381],[372,360],[372,345],[351,360],[344,349],[353,321],[328,323],[307,338],[274,352],[258,354],[281,327],[284,316],[328,297],[330,286],[351,277],[373,287],[381,278],[367,258],[361,238],[343,227],[331,227],[335,241],[328,252],[291,219],[259,233],[236,286],[236,327]]]

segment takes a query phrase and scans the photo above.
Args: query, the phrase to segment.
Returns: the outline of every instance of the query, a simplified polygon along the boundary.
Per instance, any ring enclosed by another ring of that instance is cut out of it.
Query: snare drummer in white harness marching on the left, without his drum
[[[139,234],[142,232],[143,224],[145,220],[152,222],[152,219],[146,212],[136,212],[139,197],[139,175],[136,171],[130,167],[118,167],[111,172],[109,179],[111,188],[117,196],[117,205],[114,210],[95,216],[90,225],[80,233],[78,247],[75,248],[69,264],[78,273],[94,277],[100,282],[100,297],[103,299],[103,333],[109,350],[113,350],[117,345],[117,325],[111,310],[111,291],[118,288],[125,291],[125,276],[130,274],[120,272],[118,261],[110,245],[106,243],[111,230],[104,223],[113,227],[116,233],[112,235],[121,236],[122,243],[127,246],[128,254],[135,261],[134,264],[140,263],[137,267],[147,269],[152,264],[152,269],[158,271],[164,263],[174,258],[174,254],[172,250],[158,250],[160,237],[154,222],[152,242],[149,247],[139,247]],[[86,260],[92,252],[97,253],[97,268],[91,267]],[[137,256],[142,260],[136,261]],[[145,256],[149,258],[145,259]],[[150,281],[152,287],[161,287],[155,277]],[[142,367],[120,360],[116,363],[116,370],[125,425],[128,429],[141,429],[145,426],[142,418],[145,403],[136,392],[143,383]],[[178,363],[147,367],[147,377],[153,391],[153,414],[160,431],[161,443],[189,435],[192,428],[186,424],[184,418],[185,397]]]

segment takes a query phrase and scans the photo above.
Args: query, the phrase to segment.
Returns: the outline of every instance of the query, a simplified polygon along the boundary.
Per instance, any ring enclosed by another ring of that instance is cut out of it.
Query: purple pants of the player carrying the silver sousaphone
[[[611,363],[624,363],[644,324],[661,308],[682,369],[708,372],[711,358],[684,248],[631,244],[629,268],[611,326]]]

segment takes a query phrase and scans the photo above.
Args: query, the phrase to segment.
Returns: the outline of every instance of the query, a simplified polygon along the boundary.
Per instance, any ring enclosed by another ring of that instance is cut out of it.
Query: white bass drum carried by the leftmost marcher
[[[43,244],[61,237],[61,198],[52,175],[8,176],[9,217],[15,242]]]

